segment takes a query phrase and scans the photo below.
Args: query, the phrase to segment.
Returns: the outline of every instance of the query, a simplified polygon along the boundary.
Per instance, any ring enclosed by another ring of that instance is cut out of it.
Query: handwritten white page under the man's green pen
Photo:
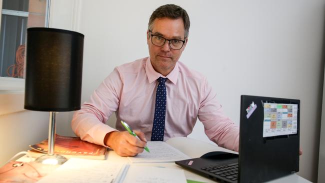
[[[163,141],[148,141],[150,152],[143,150],[134,157],[128,157],[132,163],[138,162],[174,162],[190,157]]]

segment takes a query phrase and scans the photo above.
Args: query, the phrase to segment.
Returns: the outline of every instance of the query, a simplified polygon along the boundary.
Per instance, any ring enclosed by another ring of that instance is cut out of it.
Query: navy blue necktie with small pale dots
[[[154,117],[151,132],[151,141],[163,141],[166,114],[166,86],[167,78],[159,77],[155,93]]]

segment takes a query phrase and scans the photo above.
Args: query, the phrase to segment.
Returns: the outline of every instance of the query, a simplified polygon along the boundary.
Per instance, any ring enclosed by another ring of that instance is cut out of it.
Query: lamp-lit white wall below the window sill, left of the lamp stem
[[[46,130],[47,129],[47,130]],[[0,115],[0,166],[48,135],[48,112],[21,111]]]

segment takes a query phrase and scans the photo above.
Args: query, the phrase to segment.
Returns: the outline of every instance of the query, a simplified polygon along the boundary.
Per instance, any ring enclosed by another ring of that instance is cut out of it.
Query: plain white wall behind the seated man
[[[240,94],[301,100],[298,174],[316,181],[324,0],[83,0],[82,101],[115,66],[148,55],[148,18],[165,3],[190,16],[180,60],[208,77],[235,123]],[[199,122],[190,136],[206,139]]]

